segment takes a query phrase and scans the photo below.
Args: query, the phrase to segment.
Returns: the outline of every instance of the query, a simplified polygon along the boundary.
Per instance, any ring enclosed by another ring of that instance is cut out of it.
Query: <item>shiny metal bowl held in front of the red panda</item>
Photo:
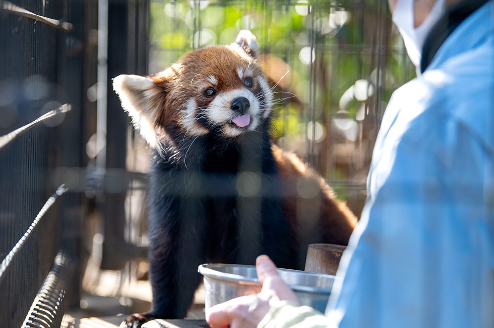
[[[253,265],[203,264],[198,271],[204,276],[206,309],[261,291]],[[298,297],[300,304],[324,313],[335,276],[288,269],[278,269],[278,274]]]

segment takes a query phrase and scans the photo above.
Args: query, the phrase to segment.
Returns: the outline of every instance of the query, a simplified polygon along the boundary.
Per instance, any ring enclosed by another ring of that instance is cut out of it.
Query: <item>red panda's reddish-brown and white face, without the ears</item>
[[[169,112],[160,122],[163,125],[171,115],[186,134],[215,130],[234,138],[256,129],[269,114],[272,96],[268,83],[255,59],[243,49],[199,49],[177,62],[175,71],[165,106]]]

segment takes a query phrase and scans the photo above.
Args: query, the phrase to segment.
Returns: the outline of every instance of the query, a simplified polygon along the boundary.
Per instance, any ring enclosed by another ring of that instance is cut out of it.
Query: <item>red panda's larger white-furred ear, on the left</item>
[[[156,122],[160,95],[163,94],[161,88],[151,78],[122,74],[113,79],[113,90],[119,95],[134,127],[150,146],[157,148]]]

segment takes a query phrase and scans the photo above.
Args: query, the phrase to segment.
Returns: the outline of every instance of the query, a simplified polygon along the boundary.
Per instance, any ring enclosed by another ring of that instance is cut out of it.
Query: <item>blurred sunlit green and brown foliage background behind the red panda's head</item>
[[[365,181],[391,93],[415,76],[387,0],[152,0],[150,28],[151,73],[251,30],[278,60],[260,59],[272,85],[290,71],[276,89],[276,137],[330,180]]]

